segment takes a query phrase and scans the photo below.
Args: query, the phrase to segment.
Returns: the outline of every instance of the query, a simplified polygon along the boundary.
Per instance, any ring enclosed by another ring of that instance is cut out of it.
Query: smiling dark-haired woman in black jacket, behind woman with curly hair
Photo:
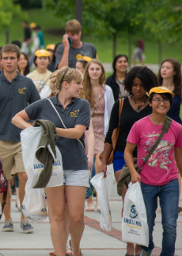
[[[129,93],[124,89],[123,80],[127,75],[128,58],[125,54],[117,55],[113,62],[114,70],[112,76],[108,76],[106,84],[112,88],[115,101],[117,99],[129,96]]]

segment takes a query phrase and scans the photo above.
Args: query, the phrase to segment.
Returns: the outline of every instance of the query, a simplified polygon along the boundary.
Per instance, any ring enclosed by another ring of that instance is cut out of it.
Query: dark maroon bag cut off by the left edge
[[[6,176],[4,176],[4,172],[2,169],[2,158],[0,158],[0,193],[3,193],[2,196],[2,212],[6,205],[6,197],[8,191],[8,180],[6,180]],[[0,214],[0,219],[2,219],[2,214]]]

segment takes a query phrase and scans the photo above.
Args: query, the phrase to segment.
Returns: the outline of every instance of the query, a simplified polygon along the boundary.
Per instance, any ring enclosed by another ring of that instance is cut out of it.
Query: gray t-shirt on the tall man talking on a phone
[[[58,46],[56,50],[55,68],[57,68],[57,66],[59,65],[59,62],[62,59],[63,51],[64,51],[64,45],[61,44]],[[68,56],[68,66],[70,68],[76,68],[76,62],[77,62],[76,56],[78,54],[81,54],[82,56],[89,56],[92,59],[96,59],[97,57],[96,48],[92,44],[82,42],[81,48],[73,48],[70,45],[69,56]]]

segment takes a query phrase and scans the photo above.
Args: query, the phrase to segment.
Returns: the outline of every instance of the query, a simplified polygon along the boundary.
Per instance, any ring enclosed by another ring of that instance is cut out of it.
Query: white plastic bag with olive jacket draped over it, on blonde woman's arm
[[[30,188],[36,185],[40,173],[44,169],[44,165],[36,158],[36,150],[40,144],[42,134],[43,131],[41,127],[29,127],[21,131],[22,157]],[[47,149],[50,151],[55,161],[52,165],[51,178],[46,187],[61,186],[63,185],[62,155],[57,146],[55,146],[56,157],[49,146],[47,146]]]

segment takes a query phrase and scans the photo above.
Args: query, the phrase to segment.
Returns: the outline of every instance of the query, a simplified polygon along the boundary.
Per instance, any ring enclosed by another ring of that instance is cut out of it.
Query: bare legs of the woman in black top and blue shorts
[[[121,170],[118,170],[115,173],[116,183],[118,183],[120,174],[121,174]],[[123,194],[122,194],[123,204],[124,204],[124,196],[125,196],[126,192],[127,192],[127,187],[124,185]],[[123,209],[122,209],[122,215],[123,215]],[[134,246],[134,243],[127,242],[127,254],[133,255],[133,254],[141,254],[141,253],[142,253],[141,246],[139,246],[139,245]]]

